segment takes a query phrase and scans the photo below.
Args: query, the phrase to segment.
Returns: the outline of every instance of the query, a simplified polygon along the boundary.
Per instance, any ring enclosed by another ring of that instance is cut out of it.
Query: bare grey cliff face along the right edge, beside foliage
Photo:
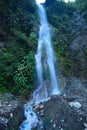
[[[71,71],[75,76],[87,77],[87,24],[83,16],[74,12],[70,20],[70,32],[73,40],[68,46],[69,57],[72,60]]]

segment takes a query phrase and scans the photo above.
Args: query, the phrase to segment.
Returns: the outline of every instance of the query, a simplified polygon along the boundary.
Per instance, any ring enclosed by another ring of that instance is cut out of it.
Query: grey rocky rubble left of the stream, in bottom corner
[[[0,95],[0,130],[18,130],[25,119],[23,105],[10,93]]]

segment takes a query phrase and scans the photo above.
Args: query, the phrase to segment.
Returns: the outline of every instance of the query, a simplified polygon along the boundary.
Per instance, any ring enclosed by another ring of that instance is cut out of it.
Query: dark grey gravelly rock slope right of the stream
[[[70,106],[71,102],[75,103],[74,107]],[[36,109],[39,119],[43,121],[41,130],[86,129],[87,81],[75,77],[68,78],[62,95],[53,96]]]

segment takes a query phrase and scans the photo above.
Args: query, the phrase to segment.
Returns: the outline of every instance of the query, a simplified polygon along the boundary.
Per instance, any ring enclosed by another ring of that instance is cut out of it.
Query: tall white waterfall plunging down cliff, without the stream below
[[[39,80],[39,87],[34,92],[33,97],[35,96],[35,102],[43,102],[47,98],[51,97],[52,95],[60,94],[60,90],[58,87],[55,67],[54,67],[54,52],[51,46],[51,35],[50,35],[50,28],[47,22],[47,17],[45,13],[45,9],[43,5],[37,3],[39,9],[39,16],[40,16],[40,31],[39,31],[39,40],[38,40],[38,48],[37,53],[35,55],[36,59],[36,70],[37,70],[37,77]],[[43,54],[43,49],[44,53]],[[43,58],[43,55],[45,55]],[[45,67],[48,67],[49,74],[50,74],[50,93],[47,88],[43,85],[44,84],[44,76],[43,76],[43,63],[45,63]]]

